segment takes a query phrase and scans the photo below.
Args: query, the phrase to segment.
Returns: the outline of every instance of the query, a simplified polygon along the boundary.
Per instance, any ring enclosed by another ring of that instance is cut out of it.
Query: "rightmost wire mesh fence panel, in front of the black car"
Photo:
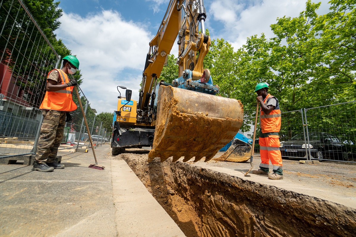
[[[312,158],[356,162],[356,101],[305,109]]]

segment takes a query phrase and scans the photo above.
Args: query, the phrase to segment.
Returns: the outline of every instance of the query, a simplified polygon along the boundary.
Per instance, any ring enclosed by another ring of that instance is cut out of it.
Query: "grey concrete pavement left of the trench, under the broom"
[[[64,153],[64,169],[0,165],[0,236],[184,236],[123,160],[97,147]]]

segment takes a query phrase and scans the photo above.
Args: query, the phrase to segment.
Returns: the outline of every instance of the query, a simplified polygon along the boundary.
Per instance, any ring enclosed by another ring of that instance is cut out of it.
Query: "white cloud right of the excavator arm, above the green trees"
[[[213,38],[224,38],[235,49],[246,43],[246,38],[265,33],[266,38],[273,37],[270,25],[276,23],[277,17],[297,17],[305,10],[306,0],[263,0],[263,1],[232,1],[215,0],[211,3],[209,13],[214,20],[224,25],[224,30]],[[318,14],[328,12],[328,0],[321,0]],[[244,6],[241,9],[241,6]]]

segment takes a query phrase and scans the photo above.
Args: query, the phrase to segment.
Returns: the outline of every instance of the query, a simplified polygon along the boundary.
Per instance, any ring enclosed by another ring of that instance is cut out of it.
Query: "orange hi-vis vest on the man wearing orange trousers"
[[[267,104],[273,97],[271,94],[268,94],[263,103]],[[262,108],[260,108],[260,124],[262,133],[278,133],[281,130],[281,110],[279,109],[278,100],[276,107],[269,114],[265,114]]]

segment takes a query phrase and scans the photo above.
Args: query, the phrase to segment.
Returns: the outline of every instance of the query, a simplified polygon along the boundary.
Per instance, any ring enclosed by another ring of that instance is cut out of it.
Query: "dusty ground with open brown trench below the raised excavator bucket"
[[[123,158],[186,236],[355,236],[356,166],[284,160],[285,179],[243,173],[249,163]],[[258,167],[259,161],[255,160]]]

